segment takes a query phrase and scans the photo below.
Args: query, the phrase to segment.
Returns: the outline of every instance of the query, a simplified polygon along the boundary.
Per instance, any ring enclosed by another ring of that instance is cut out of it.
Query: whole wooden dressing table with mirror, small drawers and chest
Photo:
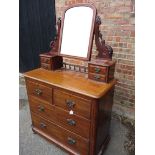
[[[101,155],[110,140],[115,61],[100,24],[92,4],[70,6],[58,19],[51,50],[40,55],[41,68],[24,74],[33,132],[73,155]],[[94,39],[98,55],[90,61]]]

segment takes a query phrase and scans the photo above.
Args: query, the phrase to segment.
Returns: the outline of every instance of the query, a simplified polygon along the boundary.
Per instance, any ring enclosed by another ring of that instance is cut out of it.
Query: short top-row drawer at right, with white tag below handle
[[[72,110],[74,114],[90,118],[91,100],[86,100],[78,96],[73,96],[64,91],[54,89],[53,92],[54,105],[61,107],[67,111]]]

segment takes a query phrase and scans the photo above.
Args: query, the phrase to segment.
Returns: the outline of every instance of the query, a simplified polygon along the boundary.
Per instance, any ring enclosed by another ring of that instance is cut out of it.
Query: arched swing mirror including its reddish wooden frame
[[[92,50],[96,8],[78,4],[67,8],[62,18],[59,55],[89,60]]]

